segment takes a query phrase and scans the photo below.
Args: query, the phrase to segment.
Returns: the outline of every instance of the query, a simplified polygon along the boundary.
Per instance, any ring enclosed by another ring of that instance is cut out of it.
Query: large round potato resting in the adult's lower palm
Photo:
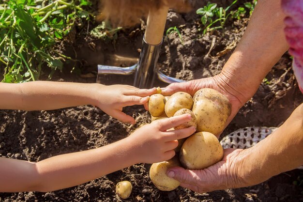
[[[209,132],[199,132],[185,140],[180,150],[182,166],[190,170],[207,168],[223,158],[219,140]]]

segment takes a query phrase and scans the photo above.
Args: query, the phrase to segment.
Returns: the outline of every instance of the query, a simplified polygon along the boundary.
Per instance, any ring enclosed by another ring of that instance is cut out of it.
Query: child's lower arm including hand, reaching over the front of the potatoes
[[[189,114],[183,114],[159,120],[115,143],[37,163],[0,158],[0,192],[53,191],[91,181],[136,163],[170,159],[175,155],[173,149],[178,145],[177,139],[190,136],[195,128],[167,129],[190,118]]]

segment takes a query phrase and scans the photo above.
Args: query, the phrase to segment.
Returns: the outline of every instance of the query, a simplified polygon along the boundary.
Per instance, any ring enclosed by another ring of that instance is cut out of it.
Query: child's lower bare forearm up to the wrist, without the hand
[[[138,163],[129,140],[83,152],[58,155],[37,163],[2,159],[0,191],[53,191],[76,186]],[[14,166],[12,165],[14,164]],[[14,168],[12,171],[9,168]],[[0,169],[1,168],[0,166]],[[15,183],[18,182],[18,183]]]

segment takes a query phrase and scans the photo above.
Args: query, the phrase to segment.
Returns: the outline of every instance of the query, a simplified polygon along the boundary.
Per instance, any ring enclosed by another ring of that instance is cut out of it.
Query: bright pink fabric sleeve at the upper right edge
[[[303,0],[282,0],[282,8],[287,17],[285,36],[293,56],[292,68],[303,93]]]

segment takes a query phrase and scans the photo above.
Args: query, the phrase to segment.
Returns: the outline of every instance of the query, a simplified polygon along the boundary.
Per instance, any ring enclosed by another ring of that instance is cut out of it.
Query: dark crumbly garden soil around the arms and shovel
[[[223,6],[226,0],[218,0]],[[202,3],[196,5],[200,7]],[[178,26],[182,33],[181,44],[177,34],[164,38],[159,67],[169,76],[191,80],[218,74],[239,42],[247,25],[247,19],[228,21],[224,30],[201,35],[199,16],[195,9],[189,14],[169,12],[167,28]],[[96,25],[93,25],[96,26]],[[80,75],[68,71],[57,74],[53,80],[92,83],[96,81],[97,64],[115,64],[114,54],[139,57],[144,25],[119,32],[118,39],[104,42],[76,31],[74,41],[62,45],[62,50],[76,58]],[[91,27],[92,28],[92,27]],[[90,28],[90,29],[91,29]],[[215,43],[212,46],[212,39]],[[136,60],[124,61],[129,65]],[[74,64],[73,64],[74,65]],[[73,65],[70,65],[72,67]],[[299,91],[290,68],[291,60],[286,53],[273,67],[254,97],[240,109],[221,138],[246,126],[279,126],[299,104],[303,95]],[[69,67],[68,67],[69,68]],[[66,68],[66,69],[68,69]],[[133,75],[102,76],[104,84],[131,84]],[[155,86],[166,86],[157,82]],[[129,125],[109,117],[92,106],[58,109],[51,111],[0,111],[0,156],[37,162],[45,158],[83,151],[110,144],[127,137],[139,124],[150,122],[150,115],[140,106],[124,111],[133,115],[137,124]],[[108,174],[83,185],[54,192],[0,193],[1,202],[113,202],[121,201],[115,186],[121,180],[129,180],[133,192],[129,200],[140,202],[299,202],[303,201],[303,187],[294,181],[303,171],[281,173],[256,186],[197,194],[179,187],[173,191],[160,191],[149,179],[149,164],[137,164]],[[274,165],[273,165],[274,166]],[[75,176],[76,177],[76,176]]]

